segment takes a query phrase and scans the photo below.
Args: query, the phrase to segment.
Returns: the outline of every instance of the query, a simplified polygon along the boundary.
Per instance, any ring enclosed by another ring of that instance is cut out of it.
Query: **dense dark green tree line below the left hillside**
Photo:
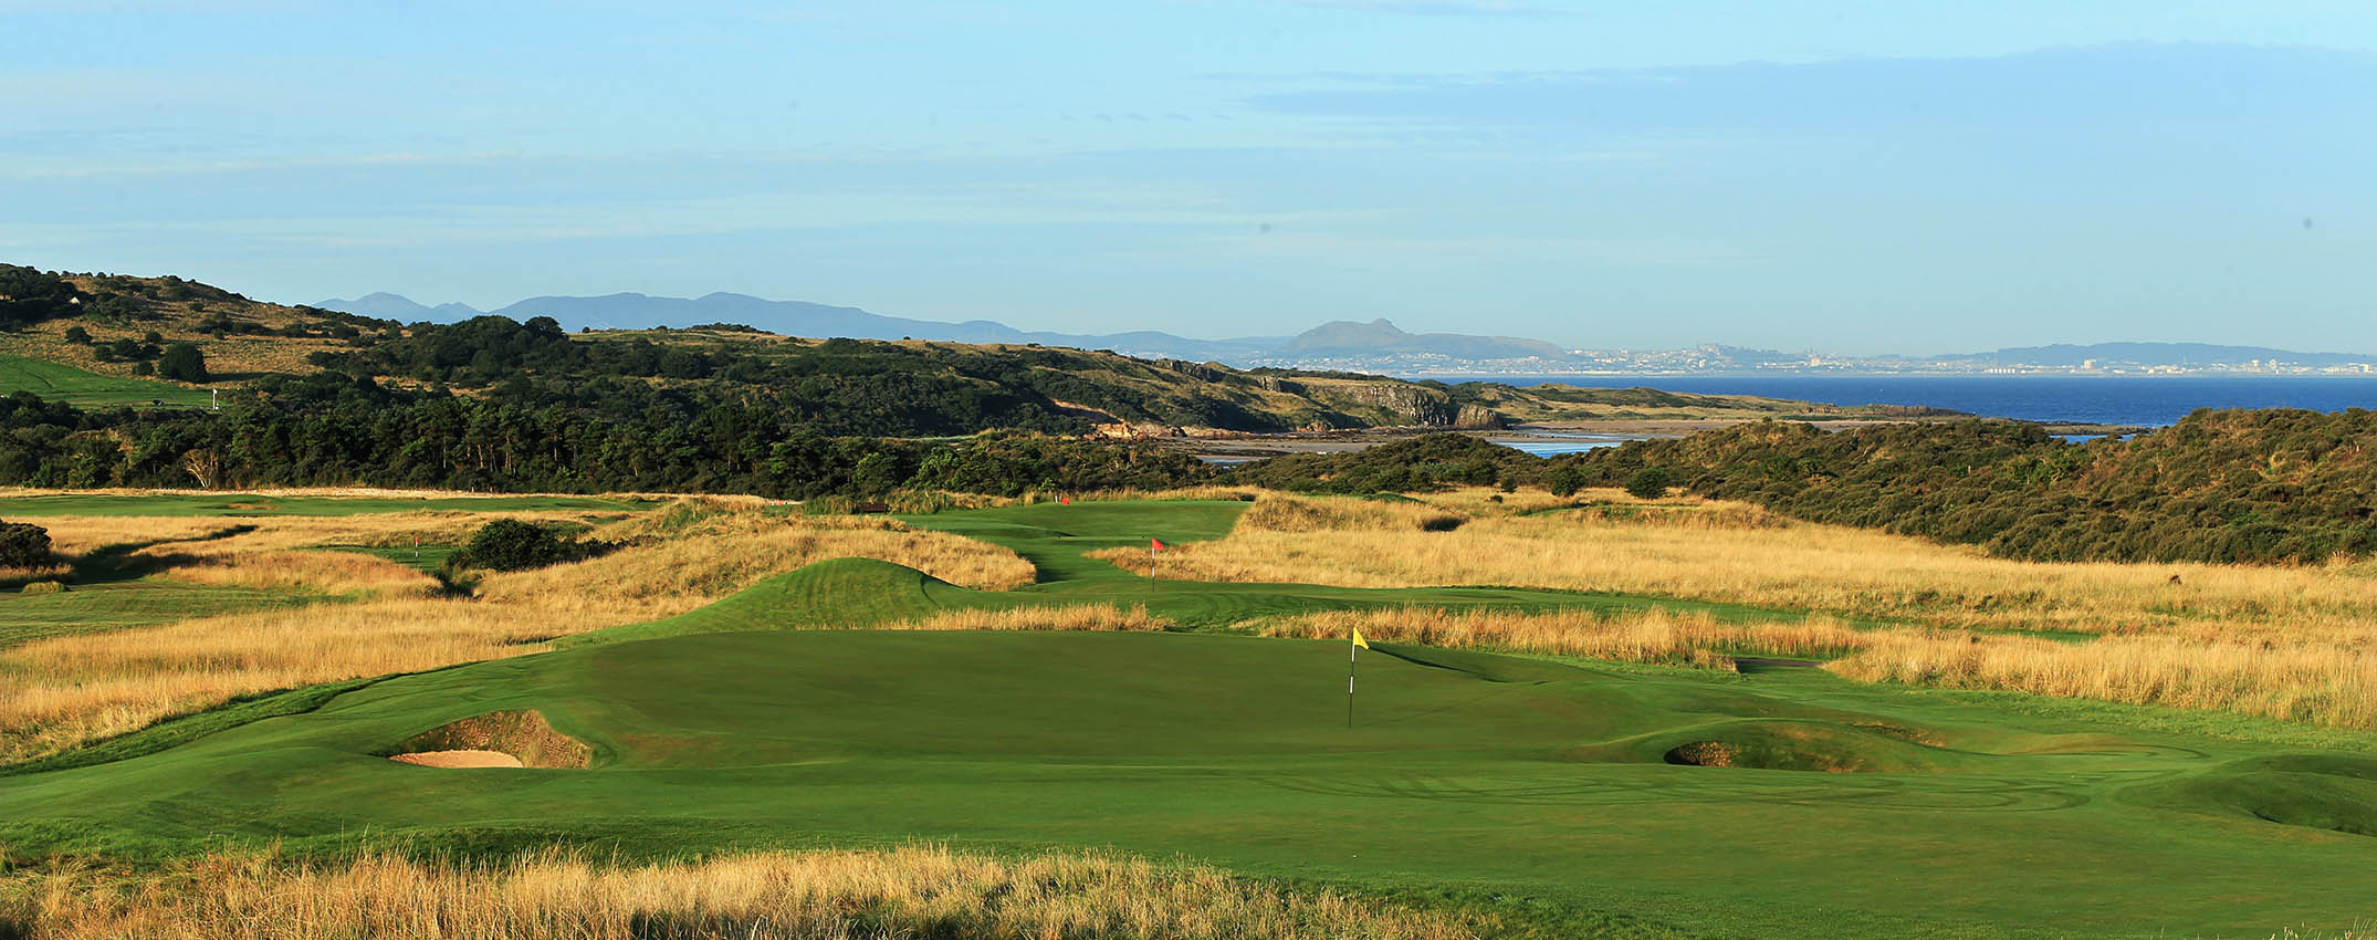
[[[402,393],[371,378],[269,378],[214,412],[86,412],[0,400],[10,485],[409,485],[532,493],[882,495],[953,488],[1179,485],[1193,457],[1036,433],[956,443],[827,435],[763,405],[654,402],[606,416]]]

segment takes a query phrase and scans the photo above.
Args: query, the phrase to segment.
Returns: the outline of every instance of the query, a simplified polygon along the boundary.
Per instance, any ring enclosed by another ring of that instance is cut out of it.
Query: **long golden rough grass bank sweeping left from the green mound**
[[[376,597],[0,650],[0,764],[52,754],[238,695],[542,652],[559,635],[682,614],[777,571],[872,557],[970,588],[1032,583],[996,545],[884,519],[704,514],[628,519],[630,545],[587,562],[490,574],[478,597]],[[338,554],[338,552],[319,552]]]

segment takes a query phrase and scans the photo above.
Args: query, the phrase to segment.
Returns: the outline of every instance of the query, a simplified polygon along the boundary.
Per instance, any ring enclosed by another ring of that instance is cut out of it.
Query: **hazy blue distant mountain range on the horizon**
[[[946,340],[946,343],[1041,343],[1079,350],[1112,350],[1136,357],[1198,359],[1248,364],[1267,359],[1379,359],[1379,357],[1455,357],[1455,359],[1526,359],[1562,357],[1562,347],[1543,340],[1505,336],[1462,333],[1405,333],[1383,319],[1369,324],[1333,321],[1300,336],[1246,336],[1229,340],[1193,340],[1186,336],[1131,331],[1131,333],[1046,333],[1020,331],[1008,324],[972,319],[944,324],[929,319],[882,317],[858,307],[830,307],[801,300],[763,300],[742,293],[713,293],[704,297],[651,297],[642,293],[613,293],[601,297],[528,297],[502,309],[475,309],[468,305],[428,307],[392,293],[368,293],[354,300],[330,297],[316,302],[321,309],[338,309],[361,317],[397,321],[456,321],[480,314],[511,319],[551,317],[563,328],[654,328],[739,324],[784,336],[853,340]]]

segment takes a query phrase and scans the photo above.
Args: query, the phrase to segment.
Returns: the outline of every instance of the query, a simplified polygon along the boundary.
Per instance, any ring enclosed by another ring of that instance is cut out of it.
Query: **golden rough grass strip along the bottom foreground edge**
[[[1017,861],[944,847],[456,866],[373,854],[212,854],[152,878],[19,876],[0,926],[40,940],[1455,940],[1474,933],[1331,890],[1115,854]],[[666,926],[666,933],[656,933]]]

